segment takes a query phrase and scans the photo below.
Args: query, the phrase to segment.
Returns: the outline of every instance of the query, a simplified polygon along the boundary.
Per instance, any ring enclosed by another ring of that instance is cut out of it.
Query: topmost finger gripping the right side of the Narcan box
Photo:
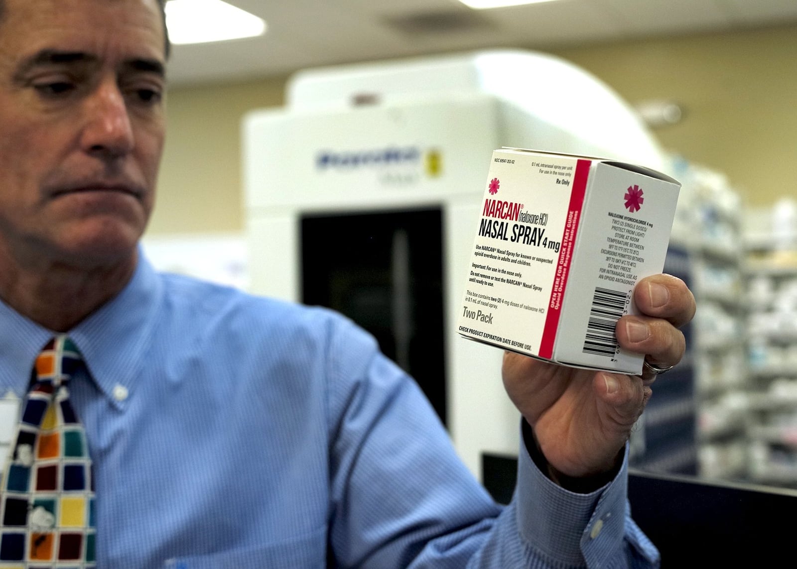
[[[645,277],[634,287],[634,303],[642,314],[663,318],[680,328],[695,314],[695,298],[684,281],[672,275]]]

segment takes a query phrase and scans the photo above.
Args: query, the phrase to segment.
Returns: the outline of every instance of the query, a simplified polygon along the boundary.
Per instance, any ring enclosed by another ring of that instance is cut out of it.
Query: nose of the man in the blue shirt
[[[115,159],[132,151],[135,144],[128,106],[114,80],[106,80],[85,103],[81,145],[101,159]]]

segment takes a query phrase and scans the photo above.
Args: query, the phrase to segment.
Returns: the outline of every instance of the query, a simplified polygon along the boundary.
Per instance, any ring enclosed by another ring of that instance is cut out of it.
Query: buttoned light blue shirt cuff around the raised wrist
[[[517,523],[529,547],[564,566],[603,565],[622,550],[626,532],[628,449],[613,480],[594,492],[570,492],[537,468],[520,445]]]

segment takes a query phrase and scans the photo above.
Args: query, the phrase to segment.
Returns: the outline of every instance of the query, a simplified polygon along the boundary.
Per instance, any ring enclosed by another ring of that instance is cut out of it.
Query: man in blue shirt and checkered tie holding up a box
[[[624,453],[653,372],[506,355],[524,447],[501,511],[347,320],[151,269],[164,37],[156,0],[0,0],[0,394],[25,398],[37,352],[69,334],[96,488],[81,567],[656,563],[626,519]],[[634,298],[646,316],[619,343],[677,363],[691,293],[660,275]],[[61,555],[73,519],[48,507],[20,551]]]

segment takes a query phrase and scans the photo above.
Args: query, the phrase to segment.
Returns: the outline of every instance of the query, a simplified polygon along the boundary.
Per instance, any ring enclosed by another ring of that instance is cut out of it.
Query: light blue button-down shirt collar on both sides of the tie
[[[97,387],[115,405],[118,386],[135,392],[135,377],[143,363],[163,296],[163,284],[143,257],[122,291],[69,331]],[[0,301],[0,387],[22,396],[27,390],[36,355],[53,332],[21,316]]]

